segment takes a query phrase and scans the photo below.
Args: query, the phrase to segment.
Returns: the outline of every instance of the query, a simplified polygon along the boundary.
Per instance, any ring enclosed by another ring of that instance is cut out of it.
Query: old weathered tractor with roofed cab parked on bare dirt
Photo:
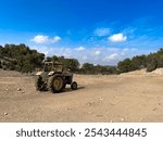
[[[73,74],[64,70],[61,63],[45,62],[43,70],[36,74],[36,90],[38,91],[61,92],[66,85],[71,85],[73,90],[77,89],[77,82],[73,81]]]

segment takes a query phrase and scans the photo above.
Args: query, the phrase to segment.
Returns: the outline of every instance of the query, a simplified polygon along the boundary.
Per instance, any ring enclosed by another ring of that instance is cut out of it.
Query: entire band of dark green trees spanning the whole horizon
[[[32,50],[26,44],[4,44],[0,46],[0,68],[32,73],[43,67],[45,54],[37,50]],[[131,59],[120,61],[117,66],[95,65],[91,63],[80,64],[76,59],[65,59],[64,56],[48,56],[47,61],[62,63],[65,69],[78,74],[120,74],[130,70],[147,68],[147,72],[163,67],[163,49],[148,55],[136,55]]]

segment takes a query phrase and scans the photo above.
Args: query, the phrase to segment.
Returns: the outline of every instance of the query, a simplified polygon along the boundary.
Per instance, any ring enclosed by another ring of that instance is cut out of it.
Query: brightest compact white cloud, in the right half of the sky
[[[115,34],[108,38],[112,42],[124,42],[127,40],[127,36],[124,36],[123,34]]]

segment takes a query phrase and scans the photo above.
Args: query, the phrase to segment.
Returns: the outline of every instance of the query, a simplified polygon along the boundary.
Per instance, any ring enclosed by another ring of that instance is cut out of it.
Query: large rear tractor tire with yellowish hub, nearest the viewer
[[[60,75],[54,75],[48,79],[48,89],[52,92],[61,92],[64,87],[64,81]]]

